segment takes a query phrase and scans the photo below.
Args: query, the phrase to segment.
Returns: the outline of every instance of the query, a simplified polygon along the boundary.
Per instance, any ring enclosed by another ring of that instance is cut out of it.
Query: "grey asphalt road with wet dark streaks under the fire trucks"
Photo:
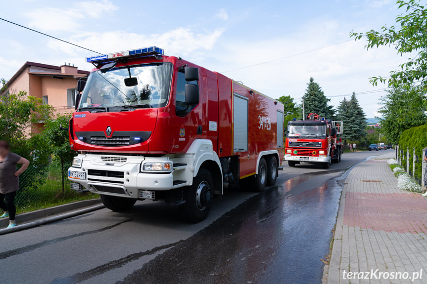
[[[344,154],[325,173],[285,166],[276,186],[227,191],[198,224],[144,201],[1,236],[0,283],[321,283],[339,176],[384,153]]]

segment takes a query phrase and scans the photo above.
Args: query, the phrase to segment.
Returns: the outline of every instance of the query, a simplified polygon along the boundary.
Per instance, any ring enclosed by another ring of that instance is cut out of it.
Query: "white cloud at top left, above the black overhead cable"
[[[83,1],[65,9],[38,8],[24,15],[29,19],[28,25],[32,28],[42,31],[69,31],[80,28],[81,22],[88,18],[100,18],[115,9],[117,7],[108,0]]]

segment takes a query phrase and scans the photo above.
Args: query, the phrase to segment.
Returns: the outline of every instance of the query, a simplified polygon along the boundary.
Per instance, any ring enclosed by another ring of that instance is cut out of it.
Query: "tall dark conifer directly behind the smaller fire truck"
[[[324,95],[322,88],[314,81],[313,77],[310,78],[310,82],[307,84],[306,92],[302,98],[304,100],[304,112],[306,116],[309,113],[317,113],[323,118],[333,118],[333,107],[328,105],[331,100]]]

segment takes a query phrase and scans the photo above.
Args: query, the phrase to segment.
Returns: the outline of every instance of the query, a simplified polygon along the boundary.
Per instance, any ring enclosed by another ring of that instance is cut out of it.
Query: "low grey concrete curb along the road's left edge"
[[[62,204],[58,206],[53,206],[53,207],[48,207],[40,210],[27,212],[27,213],[18,214],[16,215],[16,220],[18,222],[32,221],[35,219],[49,217],[52,215],[76,210],[82,207],[92,206],[99,203],[101,203],[100,199],[90,199],[90,200],[77,201],[77,202],[68,203],[68,204]],[[7,227],[7,225],[9,225],[9,218],[0,219],[0,227]]]

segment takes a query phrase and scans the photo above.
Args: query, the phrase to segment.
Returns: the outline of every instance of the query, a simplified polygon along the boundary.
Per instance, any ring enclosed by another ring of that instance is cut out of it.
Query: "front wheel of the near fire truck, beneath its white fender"
[[[183,205],[186,219],[192,223],[204,220],[209,214],[213,199],[213,178],[211,173],[201,167],[193,178],[193,184],[186,188]]]

